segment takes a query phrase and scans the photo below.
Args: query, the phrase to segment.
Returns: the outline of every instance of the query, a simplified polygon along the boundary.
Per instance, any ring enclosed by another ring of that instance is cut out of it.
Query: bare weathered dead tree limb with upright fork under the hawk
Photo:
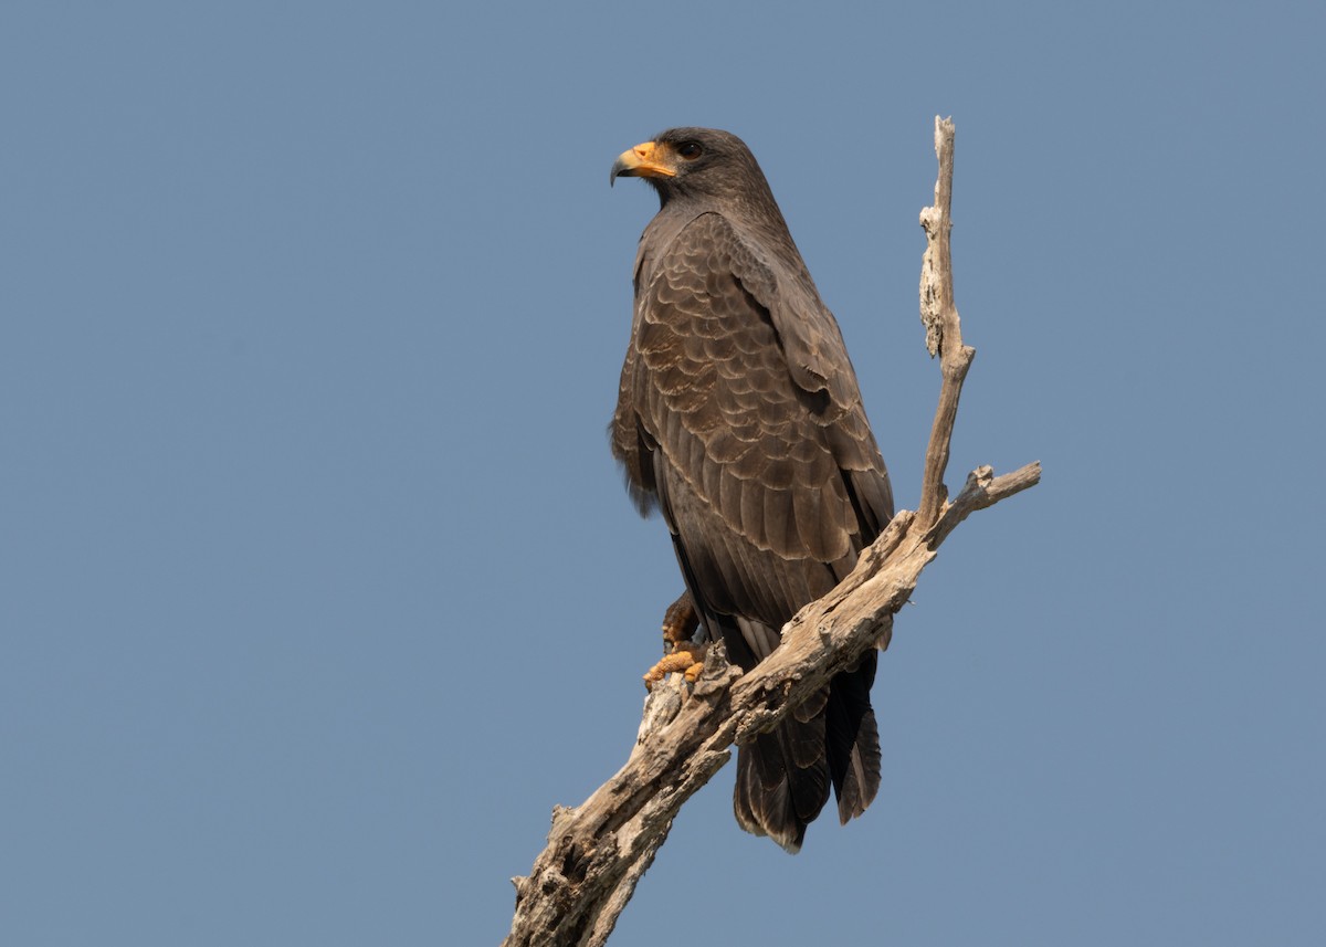
[[[693,687],[674,674],[654,690],[626,765],[575,809],[554,809],[548,848],[528,878],[512,879],[516,914],[507,947],[603,944],[682,805],[728,761],[732,744],[776,726],[886,639],[922,570],[967,516],[1040,481],[1038,463],[1004,476],[980,467],[953,501],[947,499],[949,440],[975,350],[963,345],[953,305],[951,121],[935,119],[935,149],[940,163],[935,207],[922,212],[928,243],[922,313],[931,354],[940,355],[943,382],[919,511],[900,511],[851,574],[798,611],[782,629],[778,649],[753,670],[741,674],[729,666],[717,643]]]

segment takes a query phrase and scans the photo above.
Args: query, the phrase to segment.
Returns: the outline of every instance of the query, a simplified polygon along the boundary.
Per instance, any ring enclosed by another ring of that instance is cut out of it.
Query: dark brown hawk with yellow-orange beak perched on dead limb
[[[751,670],[892,519],[888,474],[838,324],[745,143],[671,129],[625,151],[618,176],[644,178],[660,210],[635,257],[613,454],[640,513],[663,513],[709,637]],[[739,748],[741,828],[797,852],[830,785],[843,824],[866,810],[875,659]]]

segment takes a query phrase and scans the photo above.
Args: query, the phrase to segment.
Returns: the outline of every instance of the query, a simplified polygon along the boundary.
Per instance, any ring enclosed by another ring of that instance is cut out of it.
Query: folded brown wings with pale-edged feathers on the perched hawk
[[[642,248],[614,447],[697,598],[777,629],[851,568],[892,499],[833,316],[804,268],[757,247],[707,212]]]

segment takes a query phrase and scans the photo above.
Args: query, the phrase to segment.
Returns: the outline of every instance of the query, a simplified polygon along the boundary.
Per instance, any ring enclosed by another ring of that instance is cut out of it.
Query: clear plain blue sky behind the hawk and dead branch
[[[623,149],[751,145],[903,507],[957,123],[969,520],[796,858],[731,767],[614,943],[1326,931],[1321,4],[0,9],[0,940],[491,944],[680,592],[605,426]]]

